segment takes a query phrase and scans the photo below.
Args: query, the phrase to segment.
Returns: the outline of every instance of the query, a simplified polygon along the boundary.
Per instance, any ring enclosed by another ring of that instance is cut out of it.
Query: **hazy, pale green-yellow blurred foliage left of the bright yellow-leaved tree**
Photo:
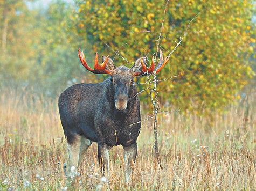
[[[32,10],[24,1],[3,1],[0,7],[1,85],[28,86],[55,97],[84,73],[77,56],[79,36],[70,29],[73,6],[57,0]]]

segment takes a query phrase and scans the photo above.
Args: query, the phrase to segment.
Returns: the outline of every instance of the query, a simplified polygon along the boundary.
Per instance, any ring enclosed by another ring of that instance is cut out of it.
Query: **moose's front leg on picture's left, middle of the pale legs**
[[[98,143],[98,158],[101,171],[105,175],[105,170],[107,171],[107,176],[109,177],[109,150],[111,147],[104,144]]]

